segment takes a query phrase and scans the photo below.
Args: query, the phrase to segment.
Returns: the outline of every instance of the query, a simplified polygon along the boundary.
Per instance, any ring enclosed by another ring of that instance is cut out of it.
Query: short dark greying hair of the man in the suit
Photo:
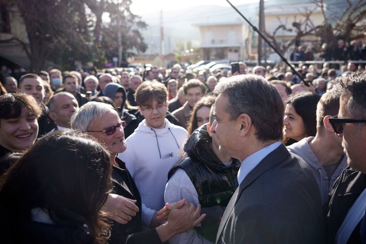
[[[220,81],[215,95],[228,99],[226,107],[230,119],[248,114],[256,129],[256,137],[262,142],[281,140],[284,106],[275,86],[259,75],[236,75]]]

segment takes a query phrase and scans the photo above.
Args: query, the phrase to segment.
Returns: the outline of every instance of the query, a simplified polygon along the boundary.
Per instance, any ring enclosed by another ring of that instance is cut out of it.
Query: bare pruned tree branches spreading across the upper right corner
[[[361,36],[366,29],[366,1],[346,0],[342,1],[344,6],[334,6],[331,1],[313,0],[314,8],[298,9],[298,14],[303,16],[302,20],[288,23],[288,20],[279,20],[279,25],[272,33],[265,32],[264,35],[276,49],[284,55],[286,51],[294,46],[297,40],[309,34],[320,38],[322,43],[327,43],[332,48],[337,39],[350,41]],[[324,22],[320,25],[314,24],[312,14],[320,10]],[[291,40],[283,41],[278,39],[278,32],[284,30],[293,32]]]

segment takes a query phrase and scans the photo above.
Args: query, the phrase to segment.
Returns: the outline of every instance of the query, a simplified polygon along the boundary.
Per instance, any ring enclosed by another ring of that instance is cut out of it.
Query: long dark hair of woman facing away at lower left
[[[106,242],[101,207],[111,190],[108,152],[83,134],[57,131],[42,137],[0,178],[0,203],[19,220],[31,209],[48,211],[53,223],[84,228]]]

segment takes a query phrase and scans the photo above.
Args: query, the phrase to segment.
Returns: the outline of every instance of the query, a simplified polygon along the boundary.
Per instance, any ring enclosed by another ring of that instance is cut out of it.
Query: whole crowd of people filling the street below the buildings
[[[295,71],[3,72],[2,236],[364,243],[366,71]]]

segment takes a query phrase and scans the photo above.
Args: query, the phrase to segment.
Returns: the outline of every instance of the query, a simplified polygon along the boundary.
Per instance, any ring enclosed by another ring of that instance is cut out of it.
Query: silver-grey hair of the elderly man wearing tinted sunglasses
[[[98,102],[88,102],[81,106],[71,117],[71,128],[74,130],[85,132],[88,130],[90,122],[96,117],[102,117],[106,113],[115,113],[112,105]],[[119,116],[118,116],[119,117]]]

